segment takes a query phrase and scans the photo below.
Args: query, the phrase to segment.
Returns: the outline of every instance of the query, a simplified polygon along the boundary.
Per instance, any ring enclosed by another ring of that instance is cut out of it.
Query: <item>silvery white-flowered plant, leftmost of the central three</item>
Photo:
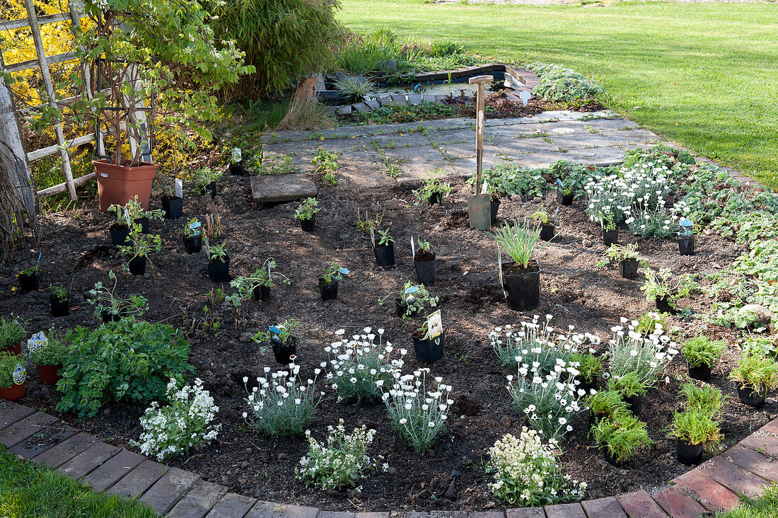
[[[251,389],[248,378],[244,377],[248,394],[246,403],[251,413],[244,412],[243,417],[249,425],[268,435],[302,435],[324,396],[324,392],[316,389],[321,369],[315,369],[314,378],[304,382],[300,377],[300,365],[290,363],[289,368],[272,373],[270,370],[265,367],[269,379],[258,377],[258,386]]]

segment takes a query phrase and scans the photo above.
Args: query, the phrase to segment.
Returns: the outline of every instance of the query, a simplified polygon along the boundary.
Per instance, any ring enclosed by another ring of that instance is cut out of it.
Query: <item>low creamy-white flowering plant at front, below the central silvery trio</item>
[[[300,466],[295,470],[299,480],[321,489],[348,488],[356,485],[356,481],[368,472],[378,469],[378,463],[383,458],[378,456],[373,459],[367,454],[376,435],[375,430],[368,430],[362,425],[354,428],[349,435],[345,433],[342,419],[338,426],[328,426],[327,429],[326,445],[311,437],[310,430],[305,432],[308,453],[300,459]],[[384,464],[383,469],[387,468]]]

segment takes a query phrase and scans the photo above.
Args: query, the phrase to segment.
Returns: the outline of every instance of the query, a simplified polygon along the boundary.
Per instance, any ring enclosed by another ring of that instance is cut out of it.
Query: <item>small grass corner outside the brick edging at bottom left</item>
[[[0,446],[0,516],[3,518],[152,518],[149,507],[85,485]]]

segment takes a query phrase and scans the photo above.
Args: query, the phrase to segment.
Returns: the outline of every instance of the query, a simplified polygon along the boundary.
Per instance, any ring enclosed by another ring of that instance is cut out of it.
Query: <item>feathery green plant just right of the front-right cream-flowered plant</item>
[[[637,455],[640,446],[649,446],[646,425],[629,413],[603,418],[592,428],[594,440],[603,450],[605,461],[623,467]]]

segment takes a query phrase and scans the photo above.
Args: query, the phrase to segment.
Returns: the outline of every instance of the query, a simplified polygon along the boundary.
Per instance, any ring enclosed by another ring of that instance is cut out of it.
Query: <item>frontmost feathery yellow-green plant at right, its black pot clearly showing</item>
[[[675,412],[670,425],[670,435],[677,439],[678,462],[691,466],[703,460],[703,449],[716,446],[721,441],[719,421],[708,412],[692,408]]]

